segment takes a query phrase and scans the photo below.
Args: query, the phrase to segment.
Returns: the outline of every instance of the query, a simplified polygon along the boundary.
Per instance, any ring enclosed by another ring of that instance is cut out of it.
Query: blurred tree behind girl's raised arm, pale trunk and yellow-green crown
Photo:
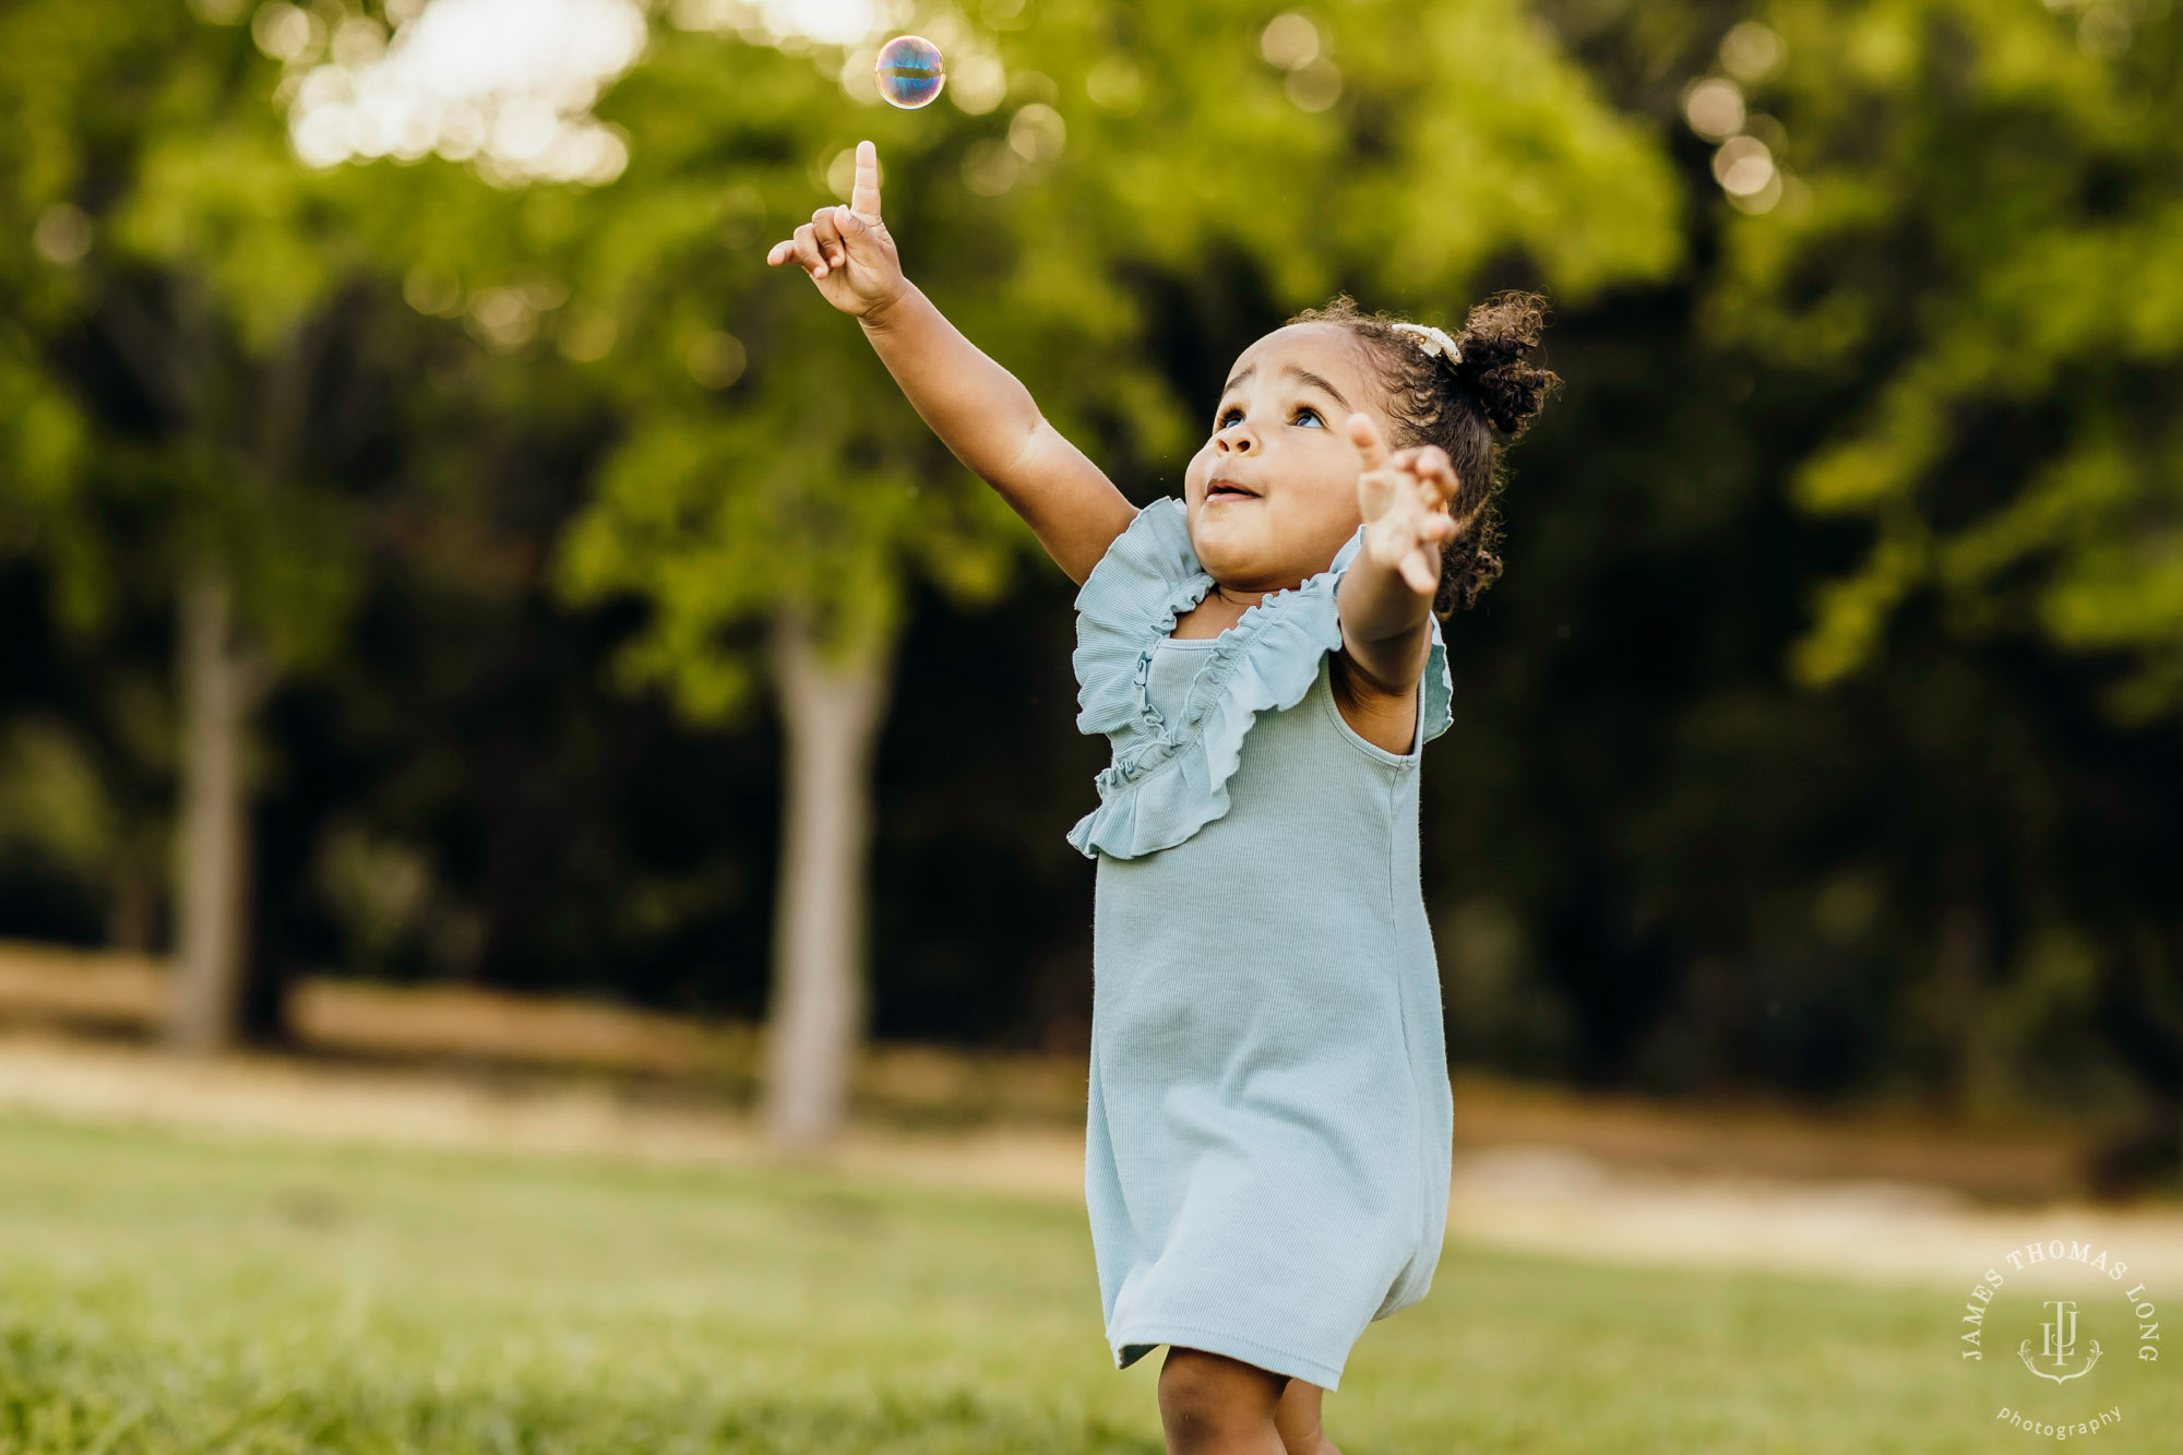
[[[585,218],[570,321],[609,321],[629,437],[565,581],[651,599],[627,679],[699,717],[742,708],[771,625],[788,800],[768,1125],[803,1143],[840,1119],[862,1018],[871,752],[908,583],[987,603],[1035,544],[854,326],[762,275],[847,194],[856,140],[880,144],[910,275],[1124,476],[1194,435],[1146,360],[1146,277],[1240,260],[1290,306],[1393,280],[1458,299],[1522,249],[1585,295],[1668,267],[1677,236],[1661,159],[1513,4],[1334,26],[1249,4],[987,7],[976,28],[934,11],[912,24],[952,79],[917,114],[878,107],[869,50],[790,44],[803,59],[703,33],[749,28],[733,7],[672,15],[696,31],[661,31],[600,107],[633,162]]]

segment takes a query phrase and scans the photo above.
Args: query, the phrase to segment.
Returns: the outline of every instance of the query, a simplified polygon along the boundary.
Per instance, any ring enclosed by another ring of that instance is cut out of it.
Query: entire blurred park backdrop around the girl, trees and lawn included
[[[1336,1440],[2170,1448],[2179,31],[0,2],[0,1448],[1164,1448],[1076,588],[764,267],[860,138],[1140,505],[1297,308],[1552,299],[1423,778],[1450,1241]],[[2144,1282],[2045,1396],[1965,1293],[2063,1234]]]

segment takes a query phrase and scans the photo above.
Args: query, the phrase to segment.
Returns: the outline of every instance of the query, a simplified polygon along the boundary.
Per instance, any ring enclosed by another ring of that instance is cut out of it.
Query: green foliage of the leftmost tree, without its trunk
[[[212,557],[275,660],[332,651],[354,527],[314,478],[360,175],[297,166],[247,28],[157,0],[9,13],[0,522],[65,620]],[[96,341],[87,350],[85,341]],[[116,374],[118,371],[118,374]],[[114,513],[155,518],[118,535]]]

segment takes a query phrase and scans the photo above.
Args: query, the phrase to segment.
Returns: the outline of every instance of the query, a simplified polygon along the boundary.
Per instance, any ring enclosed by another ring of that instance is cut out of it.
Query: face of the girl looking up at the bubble
[[[1190,544],[1220,585],[1292,588],[1356,535],[1362,461],[1349,415],[1371,417],[1393,441],[1364,350],[1338,323],[1290,323],[1236,358],[1214,433],[1183,472]]]

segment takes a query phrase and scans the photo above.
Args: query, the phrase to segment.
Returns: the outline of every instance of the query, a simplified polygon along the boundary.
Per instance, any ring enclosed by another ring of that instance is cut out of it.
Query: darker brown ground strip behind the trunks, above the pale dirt
[[[164,1007],[159,959],[0,942],[0,1020],[148,1044]],[[589,1099],[585,1105],[620,1097],[661,1108],[668,1121],[681,1108],[703,1125],[718,1125],[720,1112],[747,1114],[760,1088],[762,1031],[733,1020],[469,985],[334,979],[299,981],[286,1009],[310,1064],[356,1084],[380,1084],[367,1075],[378,1070],[426,1070],[480,1095],[511,1088],[541,1105],[568,1095]],[[589,1090],[568,1092],[570,1073]],[[862,1121],[893,1134],[1074,1134],[1085,1081],[1081,1055],[882,1042],[858,1057],[851,1097]],[[2085,1127],[1965,1127],[1908,1112],[1818,1114],[1764,1099],[1670,1103],[1465,1068],[1454,1090],[1458,1149],[1559,1147],[1611,1167],[1705,1178],[1921,1182],[1995,1206],[2089,1199],[2091,1191]],[[596,1108],[585,1116],[611,1121]]]

